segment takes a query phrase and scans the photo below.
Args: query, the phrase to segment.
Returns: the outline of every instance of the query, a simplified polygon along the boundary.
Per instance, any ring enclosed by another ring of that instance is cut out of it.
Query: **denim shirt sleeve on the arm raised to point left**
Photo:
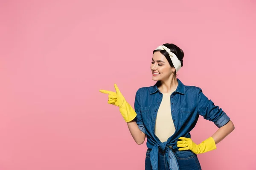
[[[137,113],[137,116],[135,117],[135,121],[137,122],[137,125],[139,126],[139,129],[145,133],[145,125],[143,123],[141,112],[140,112],[140,89],[136,92],[135,101],[134,101],[134,110]]]

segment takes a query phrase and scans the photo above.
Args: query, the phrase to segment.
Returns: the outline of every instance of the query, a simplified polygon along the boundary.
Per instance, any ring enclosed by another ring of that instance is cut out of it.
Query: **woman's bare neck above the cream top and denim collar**
[[[161,80],[160,82],[161,85],[158,87],[158,89],[161,91],[161,93],[169,93],[175,91],[178,86],[176,77],[170,77],[168,80]]]

